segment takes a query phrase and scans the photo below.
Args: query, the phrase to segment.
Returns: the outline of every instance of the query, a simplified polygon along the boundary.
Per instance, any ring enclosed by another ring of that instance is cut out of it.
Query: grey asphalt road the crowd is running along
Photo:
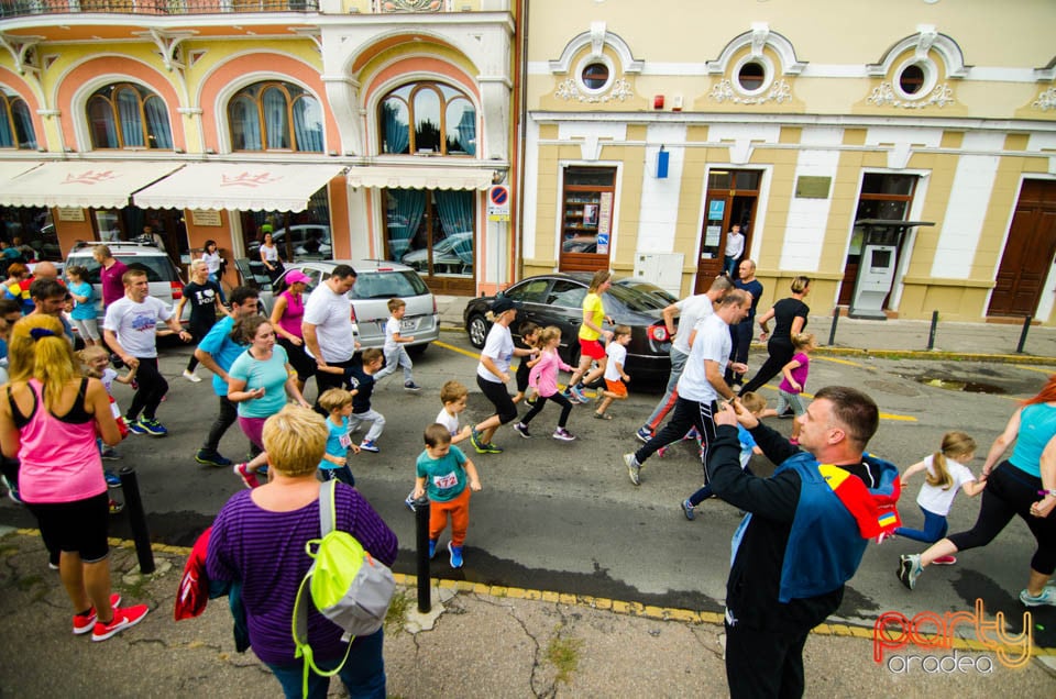
[[[374,407],[385,414],[387,426],[381,453],[363,453],[351,461],[362,492],[399,535],[396,569],[415,572],[414,515],[403,500],[414,481],[414,463],[422,448],[421,431],[440,410],[439,387],[459,378],[470,387],[463,424],[490,414],[490,403],[475,384],[476,352],[464,334],[444,333],[415,366],[420,393],[403,389],[399,373],[375,391]],[[151,535],[155,541],[190,545],[241,481],[228,469],[204,467],[194,453],[211,423],[217,399],[210,384],[190,384],[179,377],[190,350],[168,345],[162,369],[170,391],[158,410],[169,428],[164,439],[132,435],[119,447],[123,458],[111,466],[134,466]],[[761,364],[752,355],[752,367]],[[204,376],[205,369],[199,370]],[[862,388],[883,412],[880,431],[870,451],[901,468],[934,451],[945,431],[960,429],[975,436],[982,454],[1015,409],[1015,399],[1033,395],[1049,373],[1044,367],[930,360],[842,360],[817,357],[812,363],[807,391],[842,384]],[[936,384],[941,381],[941,384]],[[989,392],[956,390],[960,384]],[[117,386],[124,406],[130,393]],[[503,428],[495,442],[506,447],[501,455],[479,455],[468,447],[477,465],[484,490],[473,497],[465,567],[453,570],[446,555],[438,555],[432,575],[488,584],[593,595],[642,603],[721,611],[729,565],[729,539],[739,514],[719,500],[705,502],[697,519],[689,522],[679,503],[701,481],[695,447],[673,448],[664,458],[653,457],[642,470],[642,484],[627,478],[620,455],[637,447],[634,431],[659,398],[658,387],[631,382],[629,400],[610,409],[614,420],[590,417],[591,408],[576,408],[569,429],[579,439],[562,443],[549,437],[558,411],[548,407],[534,422],[531,440]],[[651,389],[642,390],[642,389]],[[309,398],[314,397],[311,385]],[[776,400],[776,391],[765,389]],[[773,420],[788,433],[791,422]],[[235,425],[221,443],[221,452],[237,461],[246,442]],[[768,466],[757,458],[757,473]],[[908,525],[922,524],[915,506],[916,489],[903,496],[901,508]],[[967,529],[975,521],[979,500],[958,496],[950,512],[950,531]],[[7,499],[0,502],[0,523],[33,526],[32,517]],[[113,535],[131,537],[127,515],[113,520]],[[441,546],[447,536],[441,539]],[[899,555],[923,546],[895,539],[870,545],[858,575],[850,581],[838,617],[871,624],[886,611],[912,617],[922,611],[943,614],[970,611],[977,598],[987,613],[1003,611],[1010,629],[1022,623],[1018,595],[1026,580],[1033,537],[1014,521],[989,547],[968,552],[955,566],[926,570],[914,592],[895,579]],[[43,565],[43,562],[42,562]],[[1034,640],[1056,646],[1056,609],[1034,611]]]

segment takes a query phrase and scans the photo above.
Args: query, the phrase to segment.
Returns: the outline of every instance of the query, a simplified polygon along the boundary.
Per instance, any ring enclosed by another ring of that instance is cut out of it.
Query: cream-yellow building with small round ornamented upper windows
[[[1056,323],[1056,4],[882,5],[532,0],[522,274]]]

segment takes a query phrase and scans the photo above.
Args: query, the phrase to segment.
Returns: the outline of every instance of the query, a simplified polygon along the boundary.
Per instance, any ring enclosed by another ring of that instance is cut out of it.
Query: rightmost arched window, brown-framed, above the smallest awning
[[[476,155],[476,110],[463,92],[447,85],[396,88],[382,100],[377,121],[382,153]]]

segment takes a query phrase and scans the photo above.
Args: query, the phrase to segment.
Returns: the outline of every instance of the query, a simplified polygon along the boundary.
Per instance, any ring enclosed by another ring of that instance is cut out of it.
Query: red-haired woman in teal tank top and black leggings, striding
[[[1012,456],[994,468],[1013,442]],[[899,579],[912,590],[924,566],[939,556],[986,546],[1019,515],[1037,541],[1020,601],[1026,607],[1056,607],[1056,586],[1047,585],[1056,572],[1056,374],[1037,396],[1023,401],[993,441],[980,480],[987,487],[975,526],[933,544],[922,554],[902,556]]]

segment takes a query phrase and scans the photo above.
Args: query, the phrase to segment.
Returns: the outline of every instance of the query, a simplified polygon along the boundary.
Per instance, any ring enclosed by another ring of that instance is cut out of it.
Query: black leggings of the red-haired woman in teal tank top
[[[949,541],[957,551],[986,546],[1018,514],[1037,541],[1031,568],[1052,575],[1056,570],[1056,515],[1038,518],[1031,514],[1031,506],[1041,500],[1037,495],[1041,488],[1041,478],[1020,470],[1008,461],[1001,462],[987,478],[975,526],[954,534]]]

